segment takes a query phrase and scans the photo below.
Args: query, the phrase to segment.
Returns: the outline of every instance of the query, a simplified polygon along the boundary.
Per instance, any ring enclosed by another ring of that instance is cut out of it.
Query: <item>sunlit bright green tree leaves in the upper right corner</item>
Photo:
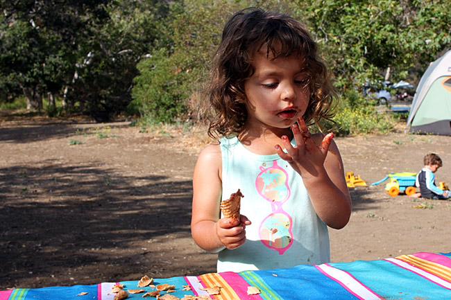
[[[445,2],[310,0],[296,6],[343,88],[383,80],[387,68],[394,80],[405,79],[450,47]]]

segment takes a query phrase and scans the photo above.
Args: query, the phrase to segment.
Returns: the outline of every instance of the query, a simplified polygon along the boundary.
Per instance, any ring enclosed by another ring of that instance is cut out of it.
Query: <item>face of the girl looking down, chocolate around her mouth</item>
[[[266,127],[286,130],[303,116],[309,104],[309,76],[296,55],[271,60],[266,53],[253,57],[254,73],[244,83],[248,130]]]

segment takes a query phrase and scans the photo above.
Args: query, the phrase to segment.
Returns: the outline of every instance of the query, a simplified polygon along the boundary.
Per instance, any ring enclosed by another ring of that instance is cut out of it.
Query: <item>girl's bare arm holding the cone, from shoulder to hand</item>
[[[194,168],[191,220],[194,242],[208,252],[239,247],[246,240],[246,224],[250,224],[244,216],[241,220],[219,219],[221,169],[219,145],[208,145],[202,150]]]

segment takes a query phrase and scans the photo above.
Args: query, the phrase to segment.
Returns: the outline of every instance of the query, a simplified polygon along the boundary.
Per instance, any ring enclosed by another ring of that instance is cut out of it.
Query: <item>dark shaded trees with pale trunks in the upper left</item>
[[[167,1],[1,4],[0,78],[17,82],[38,109],[51,93],[62,95],[69,109],[120,112],[130,102],[137,62],[165,42],[159,32]]]

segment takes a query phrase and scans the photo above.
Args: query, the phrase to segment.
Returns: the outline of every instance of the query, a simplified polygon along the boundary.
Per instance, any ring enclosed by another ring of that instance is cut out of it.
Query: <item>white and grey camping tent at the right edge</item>
[[[451,135],[451,50],[431,62],[416,87],[409,132]]]

